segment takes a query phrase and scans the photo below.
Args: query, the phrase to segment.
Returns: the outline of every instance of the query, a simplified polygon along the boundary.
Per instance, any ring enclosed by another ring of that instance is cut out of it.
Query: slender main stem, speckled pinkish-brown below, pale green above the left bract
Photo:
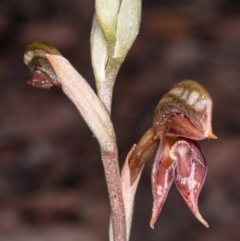
[[[119,64],[116,64],[118,60],[111,59],[106,67],[106,78],[104,81],[96,81],[97,94],[103,105],[106,107],[109,115],[112,110],[112,95],[114,83],[120,69]],[[118,146],[116,140],[112,143],[112,150],[101,151],[103,160],[103,166],[105,170],[105,178],[108,186],[108,194],[110,199],[111,210],[111,222],[110,222],[110,241],[123,240],[127,241],[127,225],[125,219],[124,199],[121,185],[121,175],[119,170],[118,160]],[[116,170],[118,169],[118,172]],[[115,195],[117,193],[117,195]],[[116,239],[117,236],[117,239]]]

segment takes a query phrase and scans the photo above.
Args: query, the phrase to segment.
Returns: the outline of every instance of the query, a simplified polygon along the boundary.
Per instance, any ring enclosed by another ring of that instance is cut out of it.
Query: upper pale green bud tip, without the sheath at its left
[[[139,32],[141,0],[96,0],[98,24],[110,57],[124,59]]]

